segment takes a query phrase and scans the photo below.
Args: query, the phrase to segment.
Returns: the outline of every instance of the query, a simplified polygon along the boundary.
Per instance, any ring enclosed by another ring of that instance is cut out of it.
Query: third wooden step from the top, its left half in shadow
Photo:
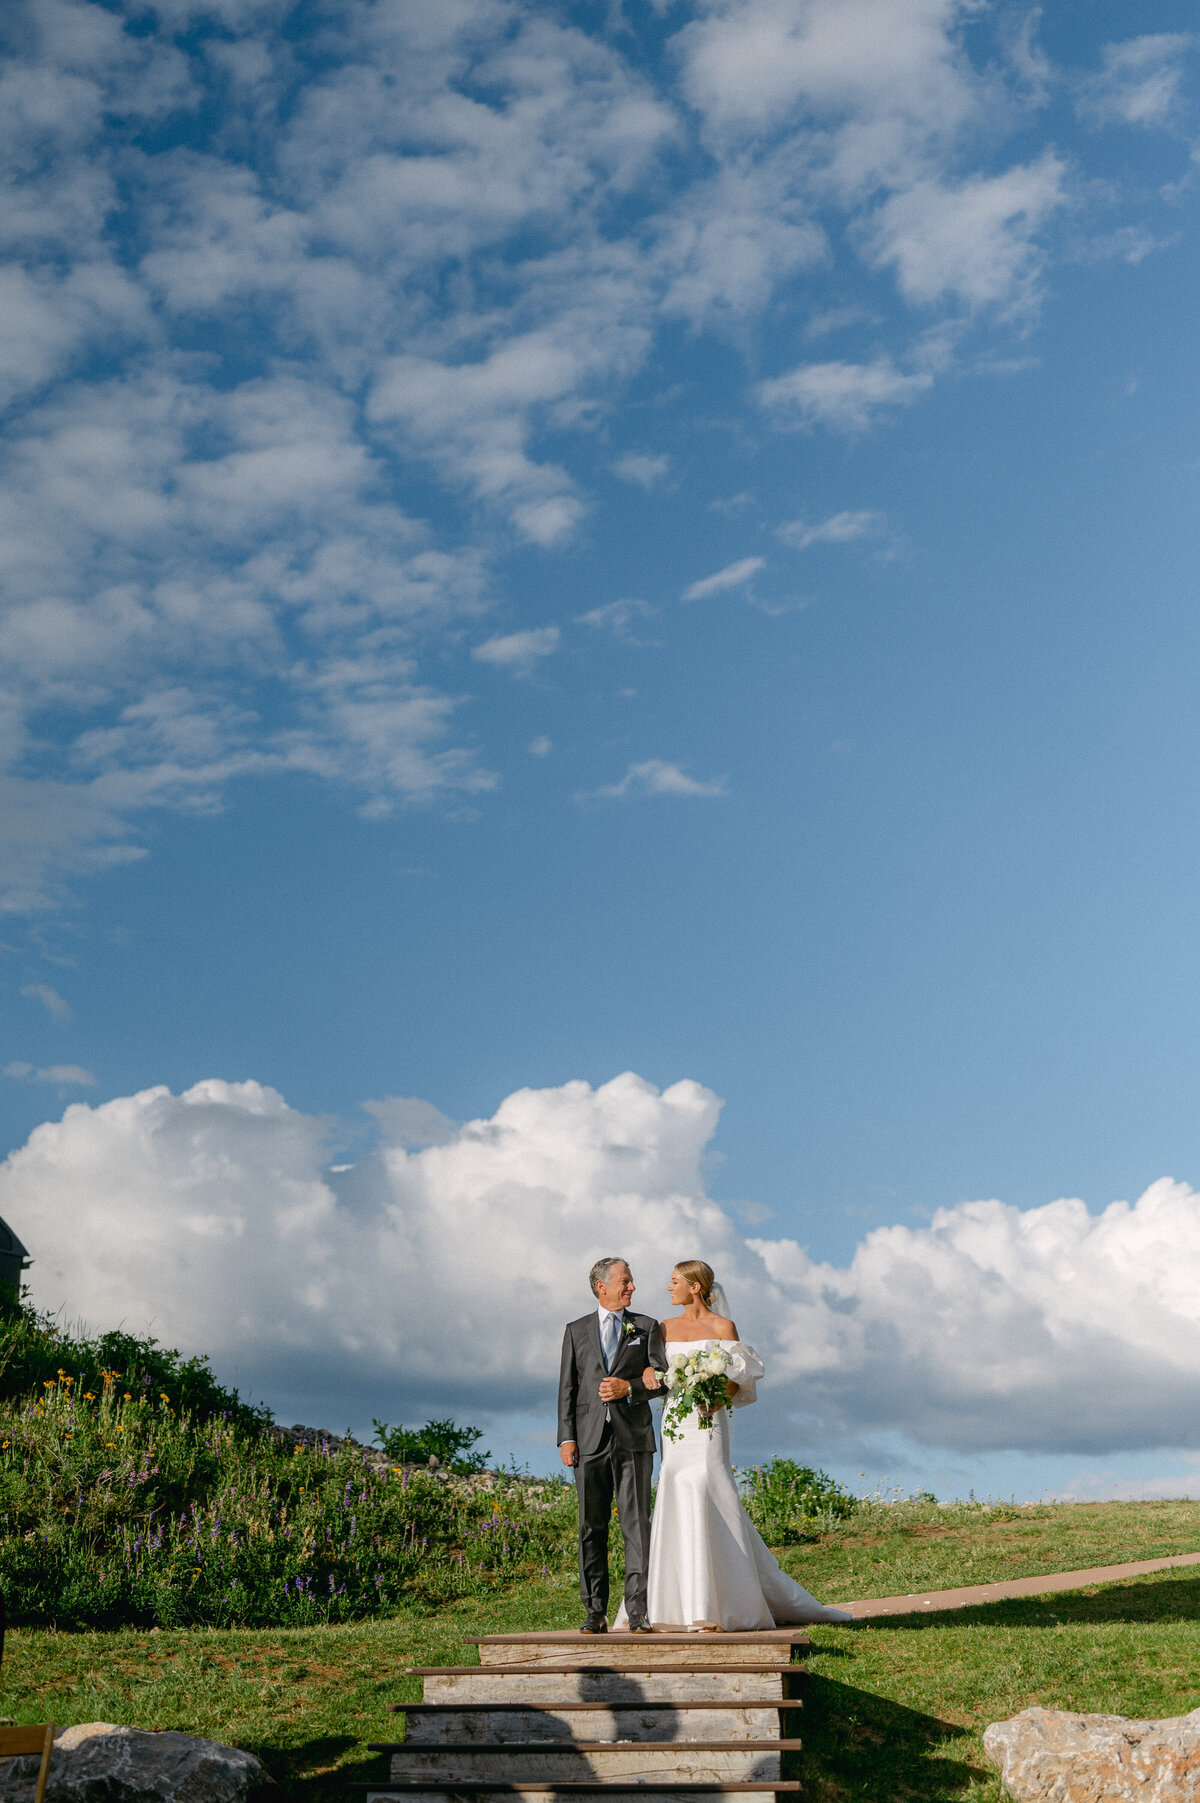
[[[445,1745],[450,1742],[521,1740],[775,1740],[780,1709],[800,1709],[800,1702],[777,1704],[613,1704],[559,1702],[532,1709],[519,1702],[490,1707],[470,1704],[409,1704],[407,1744]]]

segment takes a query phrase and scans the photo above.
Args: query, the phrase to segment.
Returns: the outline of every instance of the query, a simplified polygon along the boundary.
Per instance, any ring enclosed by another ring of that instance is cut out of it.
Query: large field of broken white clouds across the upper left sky
[[[141,856],[144,810],[216,808],[238,775],[305,770],[368,813],[485,790],[427,671],[514,539],[580,532],[589,471],[670,480],[663,453],[611,449],[663,332],[858,326],[845,362],[757,398],[865,429],[953,366],[951,335],[905,355],[894,312],[831,308],[807,274],[849,249],[892,307],[1004,319],[1038,292],[1065,189],[1031,139],[1052,72],[1005,20],[973,67],[975,0],[697,0],[652,72],[600,14],[532,0],[348,0],[314,58],[254,0],[9,13],[11,911]],[[1169,123],[1189,49],[1108,45],[1081,105]],[[168,115],[162,146],[130,123]],[[414,469],[436,528],[396,505]]]

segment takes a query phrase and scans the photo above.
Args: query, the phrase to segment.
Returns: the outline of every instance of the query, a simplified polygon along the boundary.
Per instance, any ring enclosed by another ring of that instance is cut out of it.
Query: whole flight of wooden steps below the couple
[[[809,1641],[762,1634],[486,1634],[477,1666],[418,1666],[387,1783],[368,1803],[521,1794],[521,1803],[706,1803],[798,1790],[782,1776],[800,1742],[795,1657]]]

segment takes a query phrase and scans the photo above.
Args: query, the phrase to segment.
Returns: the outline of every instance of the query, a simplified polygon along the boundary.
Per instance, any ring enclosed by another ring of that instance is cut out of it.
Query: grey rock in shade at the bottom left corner
[[[0,1760],[0,1803],[32,1803],[36,1756]],[[245,1803],[272,1780],[252,1753],[196,1734],[79,1722],[54,1736],[47,1803]]]

